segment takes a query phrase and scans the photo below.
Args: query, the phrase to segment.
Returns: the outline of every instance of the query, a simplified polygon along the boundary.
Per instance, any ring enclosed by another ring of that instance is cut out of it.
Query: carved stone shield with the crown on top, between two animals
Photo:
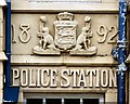
[[[77,22],[73,20],[72,13],[60,13],[57,20],[54,22],[55,27],[55,40],[56,47],[63,50],[68,50],[76,44],[76,27]]]

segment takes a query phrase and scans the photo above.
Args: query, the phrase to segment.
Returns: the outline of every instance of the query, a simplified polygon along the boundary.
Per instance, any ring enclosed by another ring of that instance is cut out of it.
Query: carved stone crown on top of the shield
[[[64,20],[73,21],[73,18],[74,18],[74,14],[73,13],[63,12],[63,13],[58,13],[57,14],[57,20],[58,21],[64,21]]]

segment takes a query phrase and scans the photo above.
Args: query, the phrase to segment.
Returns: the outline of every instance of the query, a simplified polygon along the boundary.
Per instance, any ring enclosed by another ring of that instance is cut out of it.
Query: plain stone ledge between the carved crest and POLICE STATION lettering
[[[112,56],[34,56],[12,55],[12,65],[115,66]]]

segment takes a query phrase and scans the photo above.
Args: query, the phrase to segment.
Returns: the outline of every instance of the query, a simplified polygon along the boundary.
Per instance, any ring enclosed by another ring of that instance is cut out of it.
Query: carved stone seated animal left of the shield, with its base
[[[38,34],[39,46],[34,48],[34,53],[36,54],[60,54],[54,46],[53,37],[49,34],[49,28],[44,26],[46,16],[40,17],[40,30]]]

